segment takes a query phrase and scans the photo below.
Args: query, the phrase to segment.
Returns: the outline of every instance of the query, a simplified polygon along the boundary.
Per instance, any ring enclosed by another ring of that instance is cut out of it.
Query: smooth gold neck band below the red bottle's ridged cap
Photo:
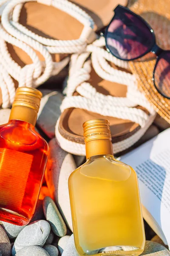
[[[37,111],[26,106],[14,106],[11,109],[9,120],[21,120],[35,126]]]

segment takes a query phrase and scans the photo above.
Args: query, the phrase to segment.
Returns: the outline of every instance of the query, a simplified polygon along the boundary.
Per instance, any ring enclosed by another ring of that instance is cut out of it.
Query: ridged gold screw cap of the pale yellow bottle
[[[111,140],[111,130],[107,119],[92,119],[84,122],[85,143],[91,140]]]

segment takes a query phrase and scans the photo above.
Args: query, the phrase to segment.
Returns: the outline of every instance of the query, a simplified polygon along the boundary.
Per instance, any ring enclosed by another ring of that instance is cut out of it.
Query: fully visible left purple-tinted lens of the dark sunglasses
[[[106,44],[117,58],[132,60],[148,52],[154,44],[150,28],[136,15],[117,10],[106,32]]]

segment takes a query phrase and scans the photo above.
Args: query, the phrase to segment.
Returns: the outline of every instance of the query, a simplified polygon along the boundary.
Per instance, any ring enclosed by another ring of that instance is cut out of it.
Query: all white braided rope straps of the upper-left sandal
[[[31,32],[29,29],[19,23],[20,12],[23,4],[29,1],[39,2],[54,6],[63,12],[79,20],[84,25],[84,29],[79,39],[76,40],[53,40],[43,38]],[[75,53],[82,52],[87,46],[88,37],[94,33],[93,19],[79,6],[68,0],[1,0],[0,7],[6,4],[2,12],[0,24],[0,67],[8,79],[1,79],[1,90],[3,94],[3,108],[9,106],[14,100],[15,87],[11,77],[19,82],[19,87],[37,87],[45,82],[50,76],[57,75],[69,58],[60,62],[52,61],[52,53]],[[19,47],[25,51],[32,60],[32,64],[20,67],[8,52],[6,42]],[[45,61],[40,61],[38,51],[44,57]],[[2,61],[3,60],[3,61]]]

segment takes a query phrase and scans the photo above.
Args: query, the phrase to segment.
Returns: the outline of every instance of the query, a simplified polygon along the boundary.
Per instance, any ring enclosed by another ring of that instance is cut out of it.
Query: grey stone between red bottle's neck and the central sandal
[[[61,114],[60,105],[63,96],[61,93],[52,90],[41,90],[42,99],[38,112],[37,125],[49,137],[55,137],[55,125]]]

